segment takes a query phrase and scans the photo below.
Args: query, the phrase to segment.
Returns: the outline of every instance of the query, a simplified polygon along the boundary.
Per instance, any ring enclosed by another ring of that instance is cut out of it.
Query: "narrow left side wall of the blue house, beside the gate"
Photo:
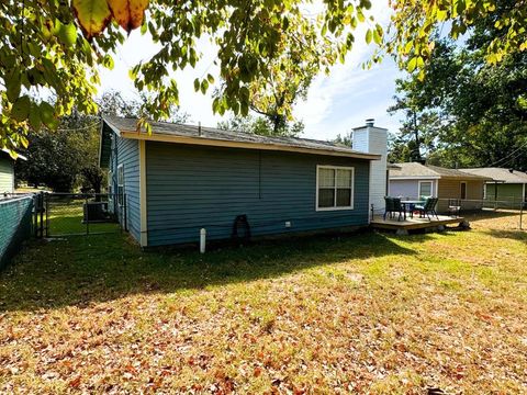
[[[112,171],[113,193],[117,193],[117,167],[124,167],[124,192],[126,194],[126,227],[131,235],[139,240],[141,238],[141,214],[139,214],[139,149],[138,142],[120,138],[113,135],[112,154],[110,157],[110,170]],[[113,210],[123,222],[124,212],[113,202]]]

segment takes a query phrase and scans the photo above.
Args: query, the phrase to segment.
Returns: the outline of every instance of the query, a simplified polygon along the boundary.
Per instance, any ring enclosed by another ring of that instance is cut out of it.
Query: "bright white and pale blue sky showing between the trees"
[[[385,1],[374,1],[372,13],[377,22],[384,27],[388,25],[390,13]],[[366,44],[365,32],[366,25],[359,25],[356,30],[355,46],[346,63],[334,66],[328,76],[323,74],[315,78],[307,99],[300,101],[294,108],[295,120],[302,120],[305,125],[302,137],[333,139],[338,134],[348,134],[352,127],[362,126],[365,120],[370,117],[375,120],[375,126],[386,127],[390,132],[397,131],[400,116],[389,115],[386,109],[393,103],[395,79],[401,74],[388,57],[371,69],[362,69],[362,63],[374,50],[373,45]],[[217,68],[213,65],[215,50],[208,40],[200,41],[198,46],[202,59],[195,68],[188,67],[175,75],[180,92],[180,106],[190,114],[189,123],[201,122],[204,126],[216,126],[222,116],[213,114],[212,111],[213,89],[210,88],[204,95],[194,92],[193,88],[195,78],[202,78],[208,72],[217,76]],[[141,35],[138,30],[133,31],[117,49],[113,70],[101,70],[100,92],[116,90],[125,98],[136,97],[128,69],[138,61],[148,59],[157,49],[148,35]],[[229,115],[226,113],[224,119]]]

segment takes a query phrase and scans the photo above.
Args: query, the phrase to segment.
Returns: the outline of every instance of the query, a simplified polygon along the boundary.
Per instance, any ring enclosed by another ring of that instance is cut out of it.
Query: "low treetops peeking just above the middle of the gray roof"
[[[299,122],[287,122],[278,131],[274,129],[271,121],[265,116],[232,116],[227,121],[217,123],[217,127],[225,131],[251,133],[261,136],[299,136],[304,131],[304,124]]]

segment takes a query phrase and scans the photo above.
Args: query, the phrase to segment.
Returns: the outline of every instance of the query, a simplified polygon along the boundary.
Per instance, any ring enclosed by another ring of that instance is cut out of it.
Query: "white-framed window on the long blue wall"
[[[355,169],[316,167],[316,211],[354,208]]]

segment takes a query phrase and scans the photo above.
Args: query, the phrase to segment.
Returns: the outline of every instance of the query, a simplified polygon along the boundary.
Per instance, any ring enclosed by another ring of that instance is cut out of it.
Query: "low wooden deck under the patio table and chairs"
[[[426,230],[444,230],[446,225],[463,225],[468,226],[468,223],[463,217],[452,217],[446,215],[439,215],[439,219],[434,217],[431,221],[428,218],[419,218],[414,215],[413,218],[406,216],[406,219],[397,221],[397,215],[393,218],[383,219],[382,215],[375,215],[370,222],[371,227],[375,229],[390,229],[396,230],[400,235],[407,235],[408,230],[426,229]]]

